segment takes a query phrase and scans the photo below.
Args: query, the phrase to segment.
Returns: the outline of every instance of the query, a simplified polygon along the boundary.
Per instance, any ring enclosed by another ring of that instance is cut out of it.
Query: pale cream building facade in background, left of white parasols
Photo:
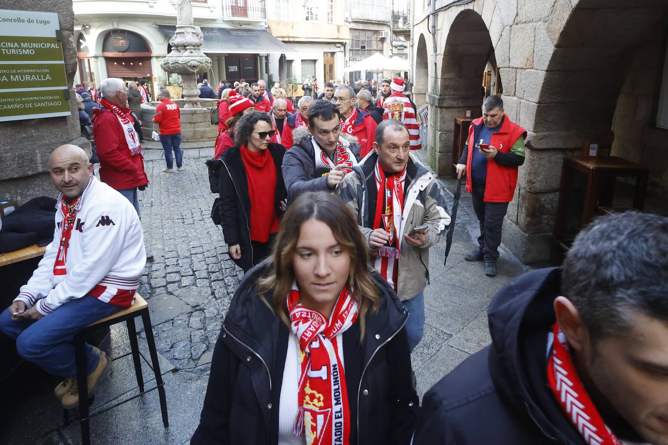
[[[326,82],[343,78],[348,25],[344,0],[274,0],[267,2],[269,31],[293,51],[269,56],[275,82]]]

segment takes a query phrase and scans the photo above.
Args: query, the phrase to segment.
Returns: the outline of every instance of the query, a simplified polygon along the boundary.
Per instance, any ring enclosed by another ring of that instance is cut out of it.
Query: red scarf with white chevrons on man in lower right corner
[[[582,386],[568,351],[566,336],[556,323],[548,336],[548,351],[548,384],[561,409],[585,442],[589,445],[621,445],[603,422],[594,402]]]

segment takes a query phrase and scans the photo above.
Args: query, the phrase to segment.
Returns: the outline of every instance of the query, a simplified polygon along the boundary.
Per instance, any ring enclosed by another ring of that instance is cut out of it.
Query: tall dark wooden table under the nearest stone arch
[[[568,209],[568,197],[574,171],[580,171],[587,175],[587,187],[585,189],[585,205],[582,208],[582,227],[587,226],[597,209],[597,205],[610,206],[615,189],[615,178],[635,177],[635,194],[633,196],[633,208],[642,210],[645,205],[645,193],[647,192],[647,178],[649,170],[639,163],[627,161],[621,157],[589,157],[589,156],[566,156],[561,171],[561,189],[559,192],[559,207],[556,213],[556,225],[554,227],[554,238],[563,250],[567,250],[564,244],[564,232],[566,230],[566,210]],[[599,193],[599,184],[605,185]],[[598,201],[598,203],[597,203]]]

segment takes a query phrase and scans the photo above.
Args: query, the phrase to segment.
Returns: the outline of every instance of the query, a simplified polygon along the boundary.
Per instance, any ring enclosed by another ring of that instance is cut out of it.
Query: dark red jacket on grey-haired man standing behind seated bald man
[[[120,107],[130,115],[130,109]],[[132,117],[130,117],[132,120]],[[126,142],[123,127],[114,113],[106,108],[93,110],[93,137],[100,158],[100,179],[116,190],[148,184],[144,173],[144,156],[133,155]]]

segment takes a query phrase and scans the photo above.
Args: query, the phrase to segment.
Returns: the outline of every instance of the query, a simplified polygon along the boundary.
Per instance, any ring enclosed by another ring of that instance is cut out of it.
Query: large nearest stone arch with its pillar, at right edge
[[[504,224],[504,242],[524,262],[550,258],[563,155],[580,154],[587,140],[615,146],[620,92],[629,87],[625,83],[629,70],[635,69],[634,59],[647,63],[649,43],[665,51],[667,11],[663,1],[623,7],[596,0],[579,0],[574,7],[556,2],[548,21],[520,25],[522,32],[530,29],[532,39],[531,57],[513,65],[520,68],[518,123],[529,137],[516,197],[508,209],[514,224]],[[655,73],[661,72],[663,55],[660,62],[656,54],[652,59]],[[647,82],[653,81],[650,75]],[[662,131],[665,140],[668,131]],[[637,147],[642,145],[637,141]],[[665,151],[660,153],[668,169]],[[623,155],[614,148],[612,154]],[[653,162],[642,154],[623,157],[648,166]]]

